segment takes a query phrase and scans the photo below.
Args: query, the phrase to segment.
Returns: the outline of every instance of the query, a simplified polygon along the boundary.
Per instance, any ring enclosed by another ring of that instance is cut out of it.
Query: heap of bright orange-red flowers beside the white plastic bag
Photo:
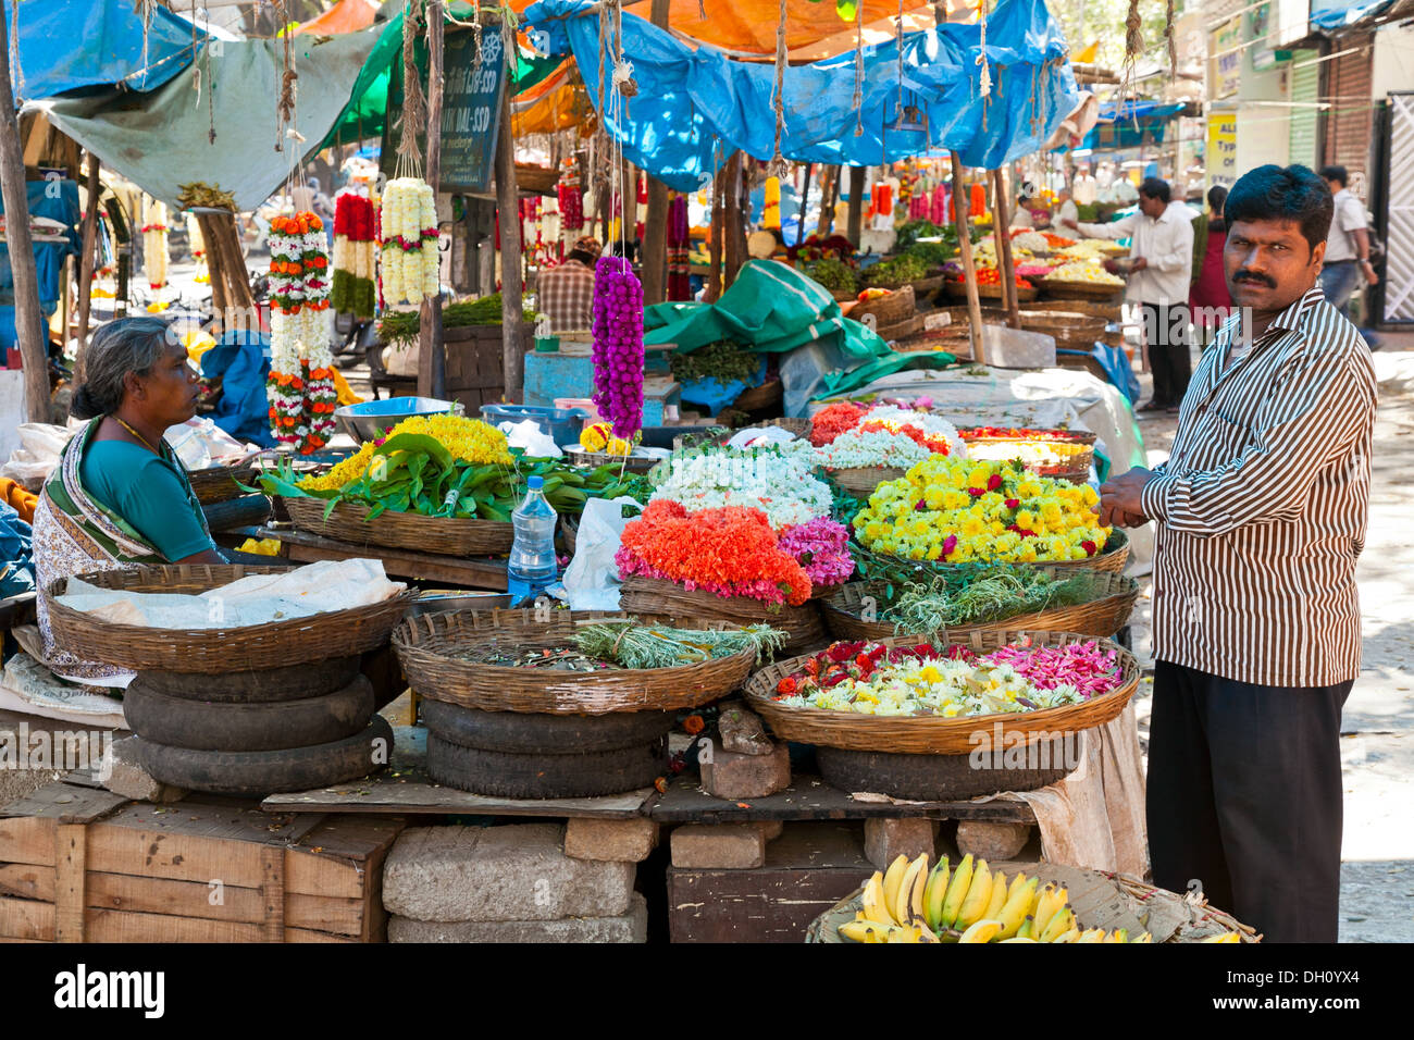
[[[810,576],[776,541],[759,509],[689,512],[653,501],[624,528],[614,560],[621,577],[653,577],[730,599],[793,607],[810,599]]]

